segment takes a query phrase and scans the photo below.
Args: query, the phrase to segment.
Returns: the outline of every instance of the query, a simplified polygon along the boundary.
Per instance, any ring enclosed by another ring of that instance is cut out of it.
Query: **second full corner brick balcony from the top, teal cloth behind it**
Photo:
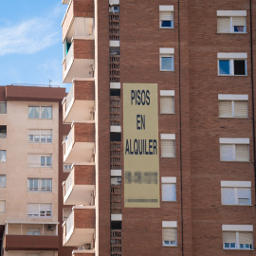
[[[94,77],[94,41],[73,39],[64,49],[63,81]]]

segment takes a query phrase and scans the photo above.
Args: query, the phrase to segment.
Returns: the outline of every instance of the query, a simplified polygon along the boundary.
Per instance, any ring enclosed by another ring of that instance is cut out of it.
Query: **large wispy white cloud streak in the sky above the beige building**
[[[11,53],[31,54],[61,41],[61,27],[57,19],[59,14],[60,9],[56,7],[45,17],[0,27],[0,56]]]

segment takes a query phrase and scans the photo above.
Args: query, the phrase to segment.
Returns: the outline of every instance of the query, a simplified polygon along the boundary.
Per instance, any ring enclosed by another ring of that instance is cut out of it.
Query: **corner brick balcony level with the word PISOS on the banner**
[[[94,120],[94,81],[74,81],[63,101],[64,123]]]

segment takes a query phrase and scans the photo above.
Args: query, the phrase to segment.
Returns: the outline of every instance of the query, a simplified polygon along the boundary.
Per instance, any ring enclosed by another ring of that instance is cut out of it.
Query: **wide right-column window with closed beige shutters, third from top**
[[[219,118],[248,118],[248,96],[219,94]]]

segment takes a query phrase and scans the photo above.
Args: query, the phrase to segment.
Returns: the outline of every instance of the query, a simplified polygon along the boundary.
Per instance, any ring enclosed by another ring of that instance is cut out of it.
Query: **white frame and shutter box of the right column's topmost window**
[[[229,32],[233,34],[245,34],[247,33],[247,10],[217,10],[217,19],[218,18],[229,18]],[[233,18],[234,17],[245,17],[246,26],[244,26],[243,32],[235,32],[233,26]],[[219,34],[223,34],[222,32],[218,32]]]

